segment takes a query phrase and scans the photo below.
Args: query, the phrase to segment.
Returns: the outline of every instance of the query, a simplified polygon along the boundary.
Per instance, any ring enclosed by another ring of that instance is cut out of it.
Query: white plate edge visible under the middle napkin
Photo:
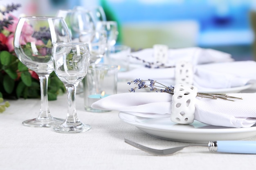
[[[252,87],[253,84],[246,84],[245,86],[231,87],[231,88],[205,88],[198,89],[200,93],[239,93],[240,91],[246,90]]]

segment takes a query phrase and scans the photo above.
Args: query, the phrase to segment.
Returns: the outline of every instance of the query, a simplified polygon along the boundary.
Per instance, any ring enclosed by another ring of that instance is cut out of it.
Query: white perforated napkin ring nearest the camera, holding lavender
[[[192,85],[176,84],[173,93],[171,121],[178,124],[193,123],[198,88]]]

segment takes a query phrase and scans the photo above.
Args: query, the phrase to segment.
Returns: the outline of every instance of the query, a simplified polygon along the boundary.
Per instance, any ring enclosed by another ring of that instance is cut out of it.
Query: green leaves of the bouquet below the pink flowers
[[[0,51],[0,98],[19,99],[40,98],[39,79],[8,51]],[[48,99],[56,100],[57,95],[65,93],[65,86],[55,73],[48,82]],[[0,110],[5,110],[5,105]]]

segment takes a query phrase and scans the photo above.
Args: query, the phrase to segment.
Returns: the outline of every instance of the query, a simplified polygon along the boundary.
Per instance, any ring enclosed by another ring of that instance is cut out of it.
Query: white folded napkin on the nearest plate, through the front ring
[[[195,120],[213,126],[251,127],[256,123],[256,93],[228,94],[242,97],[236,101],[196,97]],[[92,108],[116,110],[140,117],[170,117],[169,93],[120,93],[92,104]],[[170,119],[171,121],[171,119]]]

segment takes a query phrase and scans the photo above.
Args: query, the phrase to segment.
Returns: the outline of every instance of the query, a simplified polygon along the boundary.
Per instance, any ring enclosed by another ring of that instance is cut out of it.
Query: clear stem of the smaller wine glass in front
[[[65,84],[65,87],[67,90],[67,103],[68,103],[67,118],[65,122],[67,124],[80,123],[80,120],[76,114],[76,104],[75,104],[76,86],[74,86],[74,84]]]

